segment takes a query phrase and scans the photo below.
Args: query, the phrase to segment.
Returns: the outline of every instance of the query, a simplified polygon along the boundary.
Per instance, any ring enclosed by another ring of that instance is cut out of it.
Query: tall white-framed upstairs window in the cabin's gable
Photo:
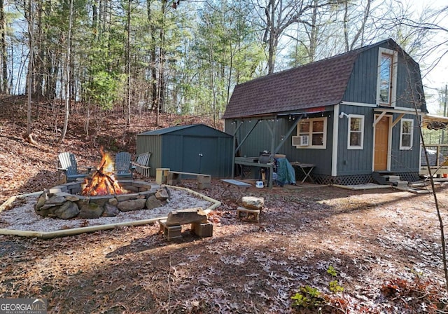
[[[379,48],[377,104],[394,107],[397,82],[397,53]]]

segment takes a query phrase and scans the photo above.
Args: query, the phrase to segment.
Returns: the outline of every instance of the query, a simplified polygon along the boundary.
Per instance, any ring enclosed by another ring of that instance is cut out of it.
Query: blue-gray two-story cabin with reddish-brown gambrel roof
[[[419,179],[419,64],[388,39],[235,87],[223,115],[236,157],[314,164],[321,184]]]

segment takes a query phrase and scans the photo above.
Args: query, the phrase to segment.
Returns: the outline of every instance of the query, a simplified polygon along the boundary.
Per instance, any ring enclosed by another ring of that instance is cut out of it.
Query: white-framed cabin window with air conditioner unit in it
[[[327,118],[308,118],[300,121],[297,135],[308,137],[308,145],[296,146],[300,149],[326,149]]]

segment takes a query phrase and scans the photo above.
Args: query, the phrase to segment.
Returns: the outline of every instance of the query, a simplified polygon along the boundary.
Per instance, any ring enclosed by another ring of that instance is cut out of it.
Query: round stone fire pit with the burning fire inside
[[[84,182],[71,182],[43,191],[35,206],[43,217],[92,219],[113,217],[118,212],[153,209],[169,198],[168,189],[158,184],[114,177],[114,163],[109,153],[101,149],[102,161],[92,176]]]

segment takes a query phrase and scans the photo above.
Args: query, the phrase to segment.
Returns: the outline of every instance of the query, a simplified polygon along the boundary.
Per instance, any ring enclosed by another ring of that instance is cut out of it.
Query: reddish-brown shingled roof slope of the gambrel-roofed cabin
[[[235,86],[223,118],[338,104],[344,96],[356,57],[366,48],[241,83]]]

